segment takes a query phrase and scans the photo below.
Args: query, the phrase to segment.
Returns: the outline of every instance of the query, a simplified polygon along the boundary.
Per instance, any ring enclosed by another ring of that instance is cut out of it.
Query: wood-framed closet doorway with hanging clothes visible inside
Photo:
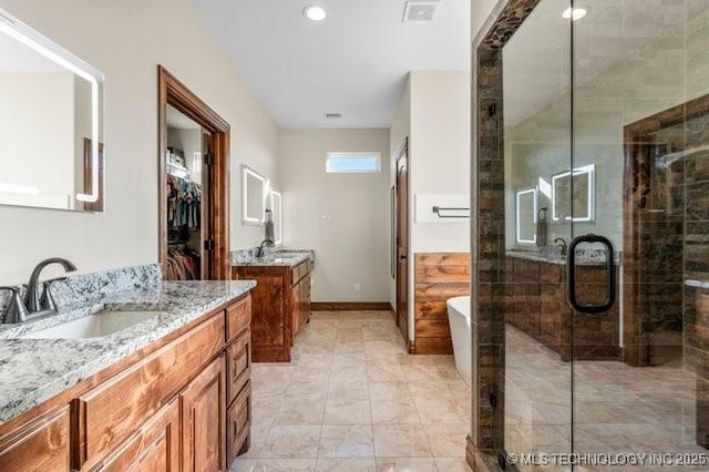
[[[228,280],[229,125],[162,65],[157,76],[163,277]]]

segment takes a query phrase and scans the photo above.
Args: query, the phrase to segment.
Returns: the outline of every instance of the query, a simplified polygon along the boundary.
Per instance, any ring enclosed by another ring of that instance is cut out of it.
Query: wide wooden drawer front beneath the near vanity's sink
[[[151,418],[224,347],[214,316],[76,400],[79,460],[94,463]]]

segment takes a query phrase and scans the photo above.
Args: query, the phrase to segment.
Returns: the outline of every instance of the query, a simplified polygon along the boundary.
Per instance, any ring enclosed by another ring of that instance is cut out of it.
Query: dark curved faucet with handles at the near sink
[[[30,281],[27,285],[24,300],[20,298],[19,287],[0,287],[0,289],[11,291],[11,299],[2,315],[2,322],[22,322],[56,312],[56,302],[54,302],[50,287],[52,283],[63,280],[65,277],[40,281],[40,273],[50,264],[61,264],[68,273],[76,270],[76,266],[70,260],[61,257],[50,257],[39,263],[32,270]]]

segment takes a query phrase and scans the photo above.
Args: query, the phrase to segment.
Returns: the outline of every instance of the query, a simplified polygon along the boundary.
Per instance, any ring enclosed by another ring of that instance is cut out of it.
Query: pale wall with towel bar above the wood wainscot
[[[418,223],[417,195],[470,194],[470,72],[412,71],[391,125],[390,155],[409,137],[409,260],[414,253],[470,250],[470,220]],[[395,173],[392,171],[391,184]],[[413,264],[409,267],[413,299]],[[395,284],[390,283],[395,302]],[[409,305],[413,339],[413,304]]]

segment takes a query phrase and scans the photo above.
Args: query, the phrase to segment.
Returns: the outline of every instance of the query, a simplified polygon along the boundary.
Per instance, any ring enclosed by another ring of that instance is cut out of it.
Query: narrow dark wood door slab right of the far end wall
[[[409,341],[409,143],[397,156],[397,326]]]

